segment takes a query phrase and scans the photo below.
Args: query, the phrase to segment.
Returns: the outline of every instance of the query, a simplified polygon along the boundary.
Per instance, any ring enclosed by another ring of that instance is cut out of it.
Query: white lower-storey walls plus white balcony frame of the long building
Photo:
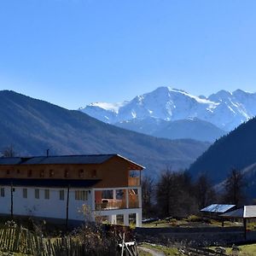
[[[11,191],[10,187],[5,186],[4,188],[4,197],[0,195],[0,214],[10,214],[11,212]],[[64,189],[64,200],[60,200],[60,190],[57,188],[26,188],[27,189],[27,198],[23,197],[24,187],[14,187],[15,191],[13,192],[14,199],[14,215],[22,216],[32,216],[32,217],[41,217],[41,218],[61,218],[66,219],[66,209],[67,209],[67,189]],[[39,189],[39,199],[35,198],[35,189]],[[49,189],[49,199],[44,198],[44,189]],[[119,188],[114,188],[119,189]],[[121,188],[124,189],[124,188]],[[125,188],[128,189],[128,188]],[[130,189],[130,188],[129,188]],[[138,189],[138,195],[141,205],[141,189]],[[87,201],[78,201],[75,200],[75,190],[85,190],[87,193]],[[84,220],[84,215],[79,212],[79,209],[86,205],[90,209],[94,209],[94,193],[98,189],[70,189],[69,191],[69,220]],[[103,189],[101,189],[103,190]],[[106,210],[106,211],[95,211],[95,215],[108,216],[111,218],[116,218],[116,215],[123,214],[124,219],[128,219],[129,223],[129,214],[137,214],[137,226],[141,226],[142,222],[142,208],[135,209],[115,209],[115,210]]]

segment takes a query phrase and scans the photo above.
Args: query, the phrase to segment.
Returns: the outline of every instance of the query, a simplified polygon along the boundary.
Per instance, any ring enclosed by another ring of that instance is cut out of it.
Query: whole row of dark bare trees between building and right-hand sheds
[[[246,180],[242,172],[230,170],[223,183],[214,186],[207,174],[192,179],[188,172],[166,169],[155,181],[143,177],[143,217],[183,218],[213,203],[241,207],[246,201]]]

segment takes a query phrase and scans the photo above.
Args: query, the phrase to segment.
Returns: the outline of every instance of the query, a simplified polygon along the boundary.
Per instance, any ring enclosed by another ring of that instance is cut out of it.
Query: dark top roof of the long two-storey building
[[[119,157],[128,161],[132,166],[142,170],[144,167],[126,159],[119,154],[80,154],[80,155],[56,155],[56,156],[32,156],[32,157],[1,157],[0,166],[13,165],[61,165],[61,164],[102,164],[103,162]]]

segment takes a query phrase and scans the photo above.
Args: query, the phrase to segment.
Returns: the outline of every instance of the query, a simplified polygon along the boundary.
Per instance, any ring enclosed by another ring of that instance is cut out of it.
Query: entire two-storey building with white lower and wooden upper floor
[[[142,170],[116,154],[0,159],[0,214],[139,227]]]

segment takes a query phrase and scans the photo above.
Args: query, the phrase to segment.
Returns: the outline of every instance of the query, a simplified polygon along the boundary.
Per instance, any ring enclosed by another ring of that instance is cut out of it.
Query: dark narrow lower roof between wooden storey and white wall
[[[46,187],[46,188],[90,188],[100,179],[59,179],[59,178],[1,178],[0,185]]]

